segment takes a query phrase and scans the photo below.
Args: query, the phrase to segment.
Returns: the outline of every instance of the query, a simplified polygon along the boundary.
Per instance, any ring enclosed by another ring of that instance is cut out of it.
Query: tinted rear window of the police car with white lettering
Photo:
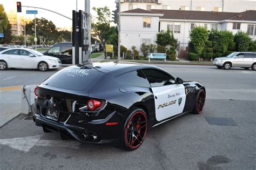
[[[104,73],[94,69],[67,67],[53,74],[43,84],[66,90],[86,91],[103,75]]]

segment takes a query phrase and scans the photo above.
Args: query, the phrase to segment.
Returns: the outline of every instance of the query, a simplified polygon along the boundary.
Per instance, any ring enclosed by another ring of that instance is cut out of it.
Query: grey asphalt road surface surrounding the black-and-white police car
[[[0,169],[256,169],[256,72],[158,66],[205,85],[202,114],[185,114],[153,128],[133,152],[62,141],[20,115],[0,128]],[[7,70],[0,72],[1,86],[38,84],[54,72]],[[224,125],[210,125],[211,118]]]

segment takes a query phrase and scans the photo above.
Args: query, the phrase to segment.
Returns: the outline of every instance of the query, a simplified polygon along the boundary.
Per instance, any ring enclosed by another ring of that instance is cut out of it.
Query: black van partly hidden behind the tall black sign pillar
[[[62,64],[72,64],[72,43],[57,43],[43,54],[59,58]]]

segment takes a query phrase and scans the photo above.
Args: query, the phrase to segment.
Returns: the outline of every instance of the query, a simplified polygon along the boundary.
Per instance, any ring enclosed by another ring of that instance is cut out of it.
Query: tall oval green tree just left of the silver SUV
[[[196,51],[199,56],[204,51],[205,43],[207,42],[207,39],[208,39],[208,31],[206,28],[199,26],[199,27],[193,28],[193,30],[190,31],[190,41],[193,45],[194,51]]]

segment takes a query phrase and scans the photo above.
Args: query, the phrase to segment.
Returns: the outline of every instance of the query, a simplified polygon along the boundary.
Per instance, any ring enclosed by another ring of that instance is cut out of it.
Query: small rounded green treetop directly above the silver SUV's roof
[[[239,31],[234,35],[235,49],[237,51],[248,51],[251,41],[251,38],[245,32]]]

